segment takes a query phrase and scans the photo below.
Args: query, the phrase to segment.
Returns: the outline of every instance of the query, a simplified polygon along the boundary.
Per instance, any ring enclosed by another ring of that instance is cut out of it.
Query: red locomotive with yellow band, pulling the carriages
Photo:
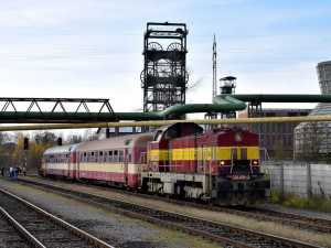
[[[215,204],[255,204],[270,196],[270,181],[260,168],[258,134],[236,129],[203,133],[194,123],[156,130],[148,143],[148,192]]]

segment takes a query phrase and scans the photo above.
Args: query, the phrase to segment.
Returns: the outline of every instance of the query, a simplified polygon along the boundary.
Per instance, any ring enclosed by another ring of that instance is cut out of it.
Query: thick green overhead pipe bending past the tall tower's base
[[[193,112],[229,112],[246,109],[245,101],[257,103],[331,103],[331,95],[218,95],[214,104],[175,105],[156,112],[115,112],[118,120],[179,119]],[[116,121],[111,112],[38,112],[2,111],[1,123],[83,123]]]

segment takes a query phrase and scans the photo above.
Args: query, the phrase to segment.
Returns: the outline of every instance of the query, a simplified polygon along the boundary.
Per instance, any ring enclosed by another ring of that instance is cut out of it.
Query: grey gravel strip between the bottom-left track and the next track
[[[12,181],[0,179],[0,187],[32,202],[115,247],[217,247],[209,244],[207,240],[111,214]]]

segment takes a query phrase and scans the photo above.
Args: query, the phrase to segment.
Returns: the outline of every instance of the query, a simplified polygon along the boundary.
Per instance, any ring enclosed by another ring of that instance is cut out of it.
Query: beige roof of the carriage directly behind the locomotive
[[[129,136],[113,137],[104,140],[94,140],[78,145],[77,151],[106,150],[114,148],[142,147],[153,139],[152,132],[137,133]]]

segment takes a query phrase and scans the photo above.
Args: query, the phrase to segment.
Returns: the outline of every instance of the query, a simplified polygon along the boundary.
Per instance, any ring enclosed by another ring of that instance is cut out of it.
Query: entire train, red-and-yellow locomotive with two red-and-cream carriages
[[[217,205],[260,203],[270,196],[258,134],[192,122],[57,145],[45,151],[41,174],[102,182]]]

